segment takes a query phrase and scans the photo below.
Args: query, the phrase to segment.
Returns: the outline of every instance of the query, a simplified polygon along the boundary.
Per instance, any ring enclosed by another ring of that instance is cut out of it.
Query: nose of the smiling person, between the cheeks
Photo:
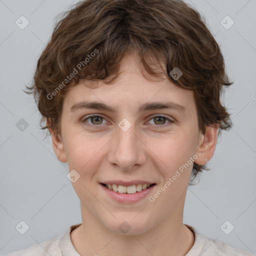
[[[146,146],[141,133],[131,125],[126,131],[117,128],[108,153],[108,162],[120,170],[132,171],[146,161]]]

